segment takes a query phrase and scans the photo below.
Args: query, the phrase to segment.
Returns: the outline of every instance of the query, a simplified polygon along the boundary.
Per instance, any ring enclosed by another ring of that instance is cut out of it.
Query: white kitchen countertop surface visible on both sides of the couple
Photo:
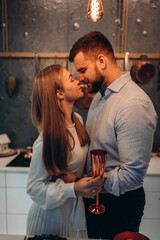
[[[10,157],[0,157],[0,172],[28,173],[29,167],[6,167],[18,154],[19,152]],[[156,153],[151,154],[147,175],[160,175],[160,157],[158,157]]]

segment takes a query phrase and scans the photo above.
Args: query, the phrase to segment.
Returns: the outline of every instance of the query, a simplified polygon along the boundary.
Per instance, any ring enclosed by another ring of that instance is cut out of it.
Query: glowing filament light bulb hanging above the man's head
[[[87,16],[93,21],[97,22],[103,16],[103,5],[101,0],[89,0],[87,7]]]

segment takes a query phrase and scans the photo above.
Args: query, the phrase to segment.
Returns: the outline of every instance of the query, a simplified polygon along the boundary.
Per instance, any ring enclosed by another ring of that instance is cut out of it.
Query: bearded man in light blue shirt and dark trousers
[[[94,215],[85,199],[89,238],[113,238],[123,231],[138,232],[145,205],[146,174],[157,115],[150,98],[118,67],[108,39],[90,32],[72,47],[69,60],[79,81],[96,92],[88,111],[86,129],[90,148],[107,151],[104,191],[106,211]],[[87,171],[91,173],[90,156]]]

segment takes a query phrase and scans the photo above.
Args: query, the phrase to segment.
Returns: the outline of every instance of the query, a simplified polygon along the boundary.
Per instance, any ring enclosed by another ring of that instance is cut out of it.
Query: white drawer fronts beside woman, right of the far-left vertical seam
[[[28,172],[6,172],[7,233],[25,235],[31,199],[26,193]]]

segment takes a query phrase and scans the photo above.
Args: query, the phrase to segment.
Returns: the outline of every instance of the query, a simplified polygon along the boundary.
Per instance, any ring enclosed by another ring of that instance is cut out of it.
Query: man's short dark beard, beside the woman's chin
[[[91,83],[91,87],[88,89],[89,93],[97,93],[101,89],[102,82],[104,81],[104,77],[100,74],[97,66],[95,66],[95,82]]]

